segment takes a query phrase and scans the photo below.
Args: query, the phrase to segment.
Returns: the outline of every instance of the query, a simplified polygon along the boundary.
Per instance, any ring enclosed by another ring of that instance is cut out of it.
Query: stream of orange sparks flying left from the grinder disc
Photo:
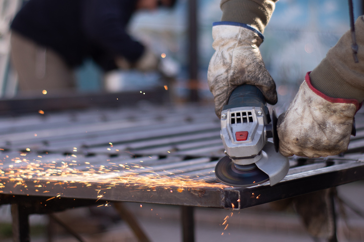
[[[76,149],[76,147],[73,148]],[[70,157],[75,157],[71,155],[61,160],[47,160],[46,155],[37,155],[39,160],[31,159],[30,161],[27,157],[28,154],[24,154],[26,155],[22,156],[22,159],[19,157],[9,157],[9,155],[6,158],[4,157],[5,160],[2,160],[2,163],[0,163],[2,179],[7,178],[10,181],[15,181],[12,185],[23,186],[24,188],[29,186],[29,181],[26,183],[24,180],[33,179],[30,182],[34,182],[34,185],[28,187],[27,190],[33,189],[33,191],[39,193],[50,193],[50,195],[59,198],[61,194],[52,194],[52,190],[49,190],[50,187],[60,185],[67,189],[80,187],[83,187],[83,189],[93,189],[98,193],[95,194],[97,200],[105,196],[104,193],[106,191],[104,190],[109,191],[117,186],[135,187],[134,190],[142,189],[148,192],[164,189],[168,193],[173,193],[173,191],[184,192],[189,187],[195,186],[220,189],[228,187],[219,183],[205,182],[202,178],[196,180],[186,175],[174,175],[170,177],[170,172],[163,175],[161,172],[157,173],[152,167],[141,166],[143,160],[137,158],[135,158],[134,163],[109,162],[104,163],[104,165],[90,165],[90,162],[81,162],[81,160],[73,158],[69,159]],[[20,154],[16,155],[20,156]],[[108,161],[110,160],[108,159]],[[84,164],[88,166],[85,168]],[[78,166],[82,168],[77,169]],[[118,170],[114,166],[118,167]],[[0,188],[4,188],[5,186],[6,184],[3,181],[0,184]],[[96,187],[97,189],[95,189]],[[228,216],[225,220],[227,218]]]

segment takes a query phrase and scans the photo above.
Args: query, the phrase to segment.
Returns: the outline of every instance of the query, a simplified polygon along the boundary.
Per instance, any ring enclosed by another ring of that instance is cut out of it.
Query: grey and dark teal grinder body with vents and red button
[[[248,165],[261,158],[261,150],[272,137],[268,108],[258,88],[237,87],[221,113],[220,136],[227,155],[235,164]]]

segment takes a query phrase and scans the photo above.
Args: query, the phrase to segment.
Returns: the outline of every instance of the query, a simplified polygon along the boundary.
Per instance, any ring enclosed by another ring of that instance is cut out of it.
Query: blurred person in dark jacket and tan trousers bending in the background
[[[11,61],[20,93],[74,91],[74,69],[92,58],[104,71],[153,71],[158,58],[127,33],[137,11],[176,0],[30,0],[11,25]]]

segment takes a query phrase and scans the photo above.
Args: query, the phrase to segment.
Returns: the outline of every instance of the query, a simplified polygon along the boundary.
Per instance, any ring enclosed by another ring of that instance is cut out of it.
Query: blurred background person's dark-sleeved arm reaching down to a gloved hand
[[[83,1],[82,29],[88,38],[114,56],[119,67],[153,69],[157,67],[157,58],[126,31],[130,16],[135,12],[135,2]]]

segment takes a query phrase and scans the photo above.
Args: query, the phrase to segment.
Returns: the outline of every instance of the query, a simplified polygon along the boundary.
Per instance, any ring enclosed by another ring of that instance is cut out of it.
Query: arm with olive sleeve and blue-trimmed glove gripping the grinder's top
[[[208,70],[208,83],[219,118],[231,92],[243,84],[255,85],[268,103],[277,103],[276,84],[265,69],[258,49],[275,2],[222,0],[220,3],[223,15],[212,29],[215,54]]]

